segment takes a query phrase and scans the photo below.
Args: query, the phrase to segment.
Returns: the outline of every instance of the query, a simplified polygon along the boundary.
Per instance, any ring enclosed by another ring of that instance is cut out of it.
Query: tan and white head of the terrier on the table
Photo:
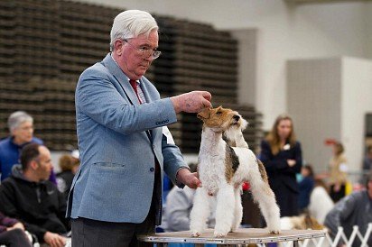
[[[240,114],[231,109],[222,108],[205,108],[198,114],[206,127],[215,132],[225,132],[230,128],[236,128],[240,131],[246,128],[246,120]]]

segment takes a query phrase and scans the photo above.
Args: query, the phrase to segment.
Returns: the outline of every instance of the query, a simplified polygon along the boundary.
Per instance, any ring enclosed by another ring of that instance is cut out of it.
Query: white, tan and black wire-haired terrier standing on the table
[[[244,140],[246,121],[236,111],[222,106],[206,108],[198,118],[203,121],[198,165],[202,187],[197,188],[191,209],[191,236],[198,237],[205,230],[210,197],[217,197],[214,236],[224,237],[237,230],[243,215],[240,188],[244,181],[251,185],[269,233],[279,233],[279,207],[264,165]]]

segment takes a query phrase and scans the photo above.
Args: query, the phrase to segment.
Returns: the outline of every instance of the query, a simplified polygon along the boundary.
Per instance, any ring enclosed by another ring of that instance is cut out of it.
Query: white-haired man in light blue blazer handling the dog
[[[80,167],[67,216],[72,245],[137,246],[161,222],[163,170],[179,187],[200,186],[165,127],[176,114],[211,107],[194,91],[160,98],[144,73],[160,56],[153,16],[129,10],[111,30],[111,53],[86,69],[76,89]],[[144,245],[141,244],[141,245]]]

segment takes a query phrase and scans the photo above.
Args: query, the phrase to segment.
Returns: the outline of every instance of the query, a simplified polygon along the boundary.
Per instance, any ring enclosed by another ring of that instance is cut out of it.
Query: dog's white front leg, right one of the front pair
[[[234,186],[226,184],[219,188],[217,194],[215,237],[224,237],[231,230],[234,219]]]

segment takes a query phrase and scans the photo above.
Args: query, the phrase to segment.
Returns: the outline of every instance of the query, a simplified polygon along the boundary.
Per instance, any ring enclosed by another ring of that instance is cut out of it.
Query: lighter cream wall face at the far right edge
[[[360,169],[365,148],[365,115],[372,113],[372,60],[342,59],[341,140],[351,169]]]

